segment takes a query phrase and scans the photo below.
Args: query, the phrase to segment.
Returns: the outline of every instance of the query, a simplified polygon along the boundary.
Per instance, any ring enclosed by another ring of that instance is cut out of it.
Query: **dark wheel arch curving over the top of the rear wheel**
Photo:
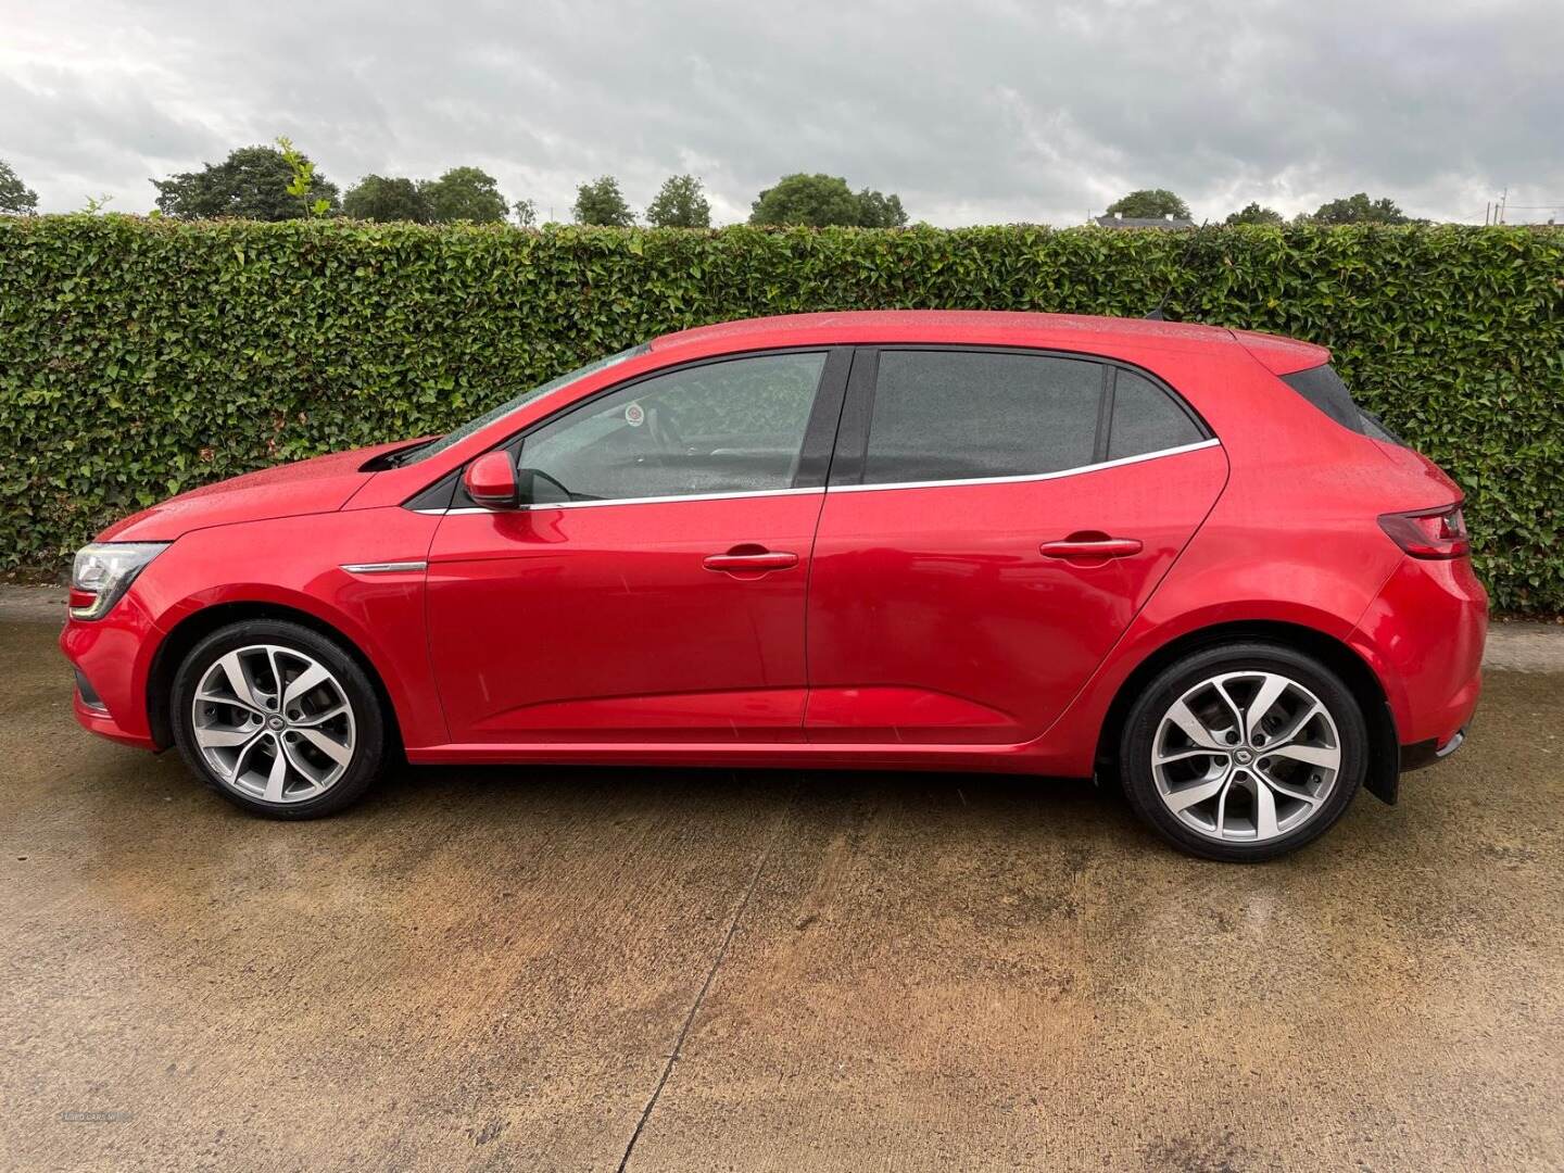
[[[1275,619],[1239,619],[1198,627],[1192,632],[1168,640],[1153,649],[1131,669],[1120,683],[1109,702],[1103,718],[1103,729],[1098,734],[1096,765],[1101,771],[1117,771],[1117,746],[1125,729],[1125,719],[1135,698],[1146,688],[1153,677],[1164,668],[1212,644],[1234,643],[1239,640],[1261,641],[1290,647],[1292,651],[1312,655],[1323,663],[1347,685],[1353,699],[1362,710],[1368,726],[1368,774],[1364,779],[1364,790],[1375,798],[1394,804],[1397,799],[1397,779],[1401,769],[1401,743],[1395,729],[1395,715],[1390,712],[1389,699],[1379,677],[1373,668],[1351,646],[1342,643],[1315,627]]]

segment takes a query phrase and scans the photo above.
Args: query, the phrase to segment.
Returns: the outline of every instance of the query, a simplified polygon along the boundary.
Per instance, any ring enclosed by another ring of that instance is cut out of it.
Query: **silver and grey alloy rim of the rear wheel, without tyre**
[[[1190,830],[1265,843],[1312,820],[1336,788],[1342,738],[1325,704],[1272,671],[1201,680],[1157,723],[1151,774]]]

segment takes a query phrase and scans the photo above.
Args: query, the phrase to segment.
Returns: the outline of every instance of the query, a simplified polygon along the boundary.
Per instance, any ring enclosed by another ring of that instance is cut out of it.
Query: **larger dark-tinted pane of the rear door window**
[[[866,485],[1057,472],[1092,463],[1098,363],[882,350]]]

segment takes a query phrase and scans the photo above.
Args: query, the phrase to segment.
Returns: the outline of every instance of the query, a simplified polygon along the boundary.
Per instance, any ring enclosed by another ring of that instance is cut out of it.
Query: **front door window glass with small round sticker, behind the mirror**
[[[613,391],[522,443],[532,499],[612,500],[793,483],[824,352],[693,366]]]

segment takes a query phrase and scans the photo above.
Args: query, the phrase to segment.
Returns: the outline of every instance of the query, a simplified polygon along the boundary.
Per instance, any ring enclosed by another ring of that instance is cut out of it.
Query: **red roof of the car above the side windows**
[[[968,343],[1107,352],[1126,344],[1242,344],[1251,353],[1275,355],[1279,366],[1293,371],[1329,361],[1329,352],[1308,343],[1273,335],[1239,338],[1220,325],[999,310],[849,310],[749,317],[663,335],[652,339],[651,347],[657,353],[712,355],[768,346],[851,343]]]

